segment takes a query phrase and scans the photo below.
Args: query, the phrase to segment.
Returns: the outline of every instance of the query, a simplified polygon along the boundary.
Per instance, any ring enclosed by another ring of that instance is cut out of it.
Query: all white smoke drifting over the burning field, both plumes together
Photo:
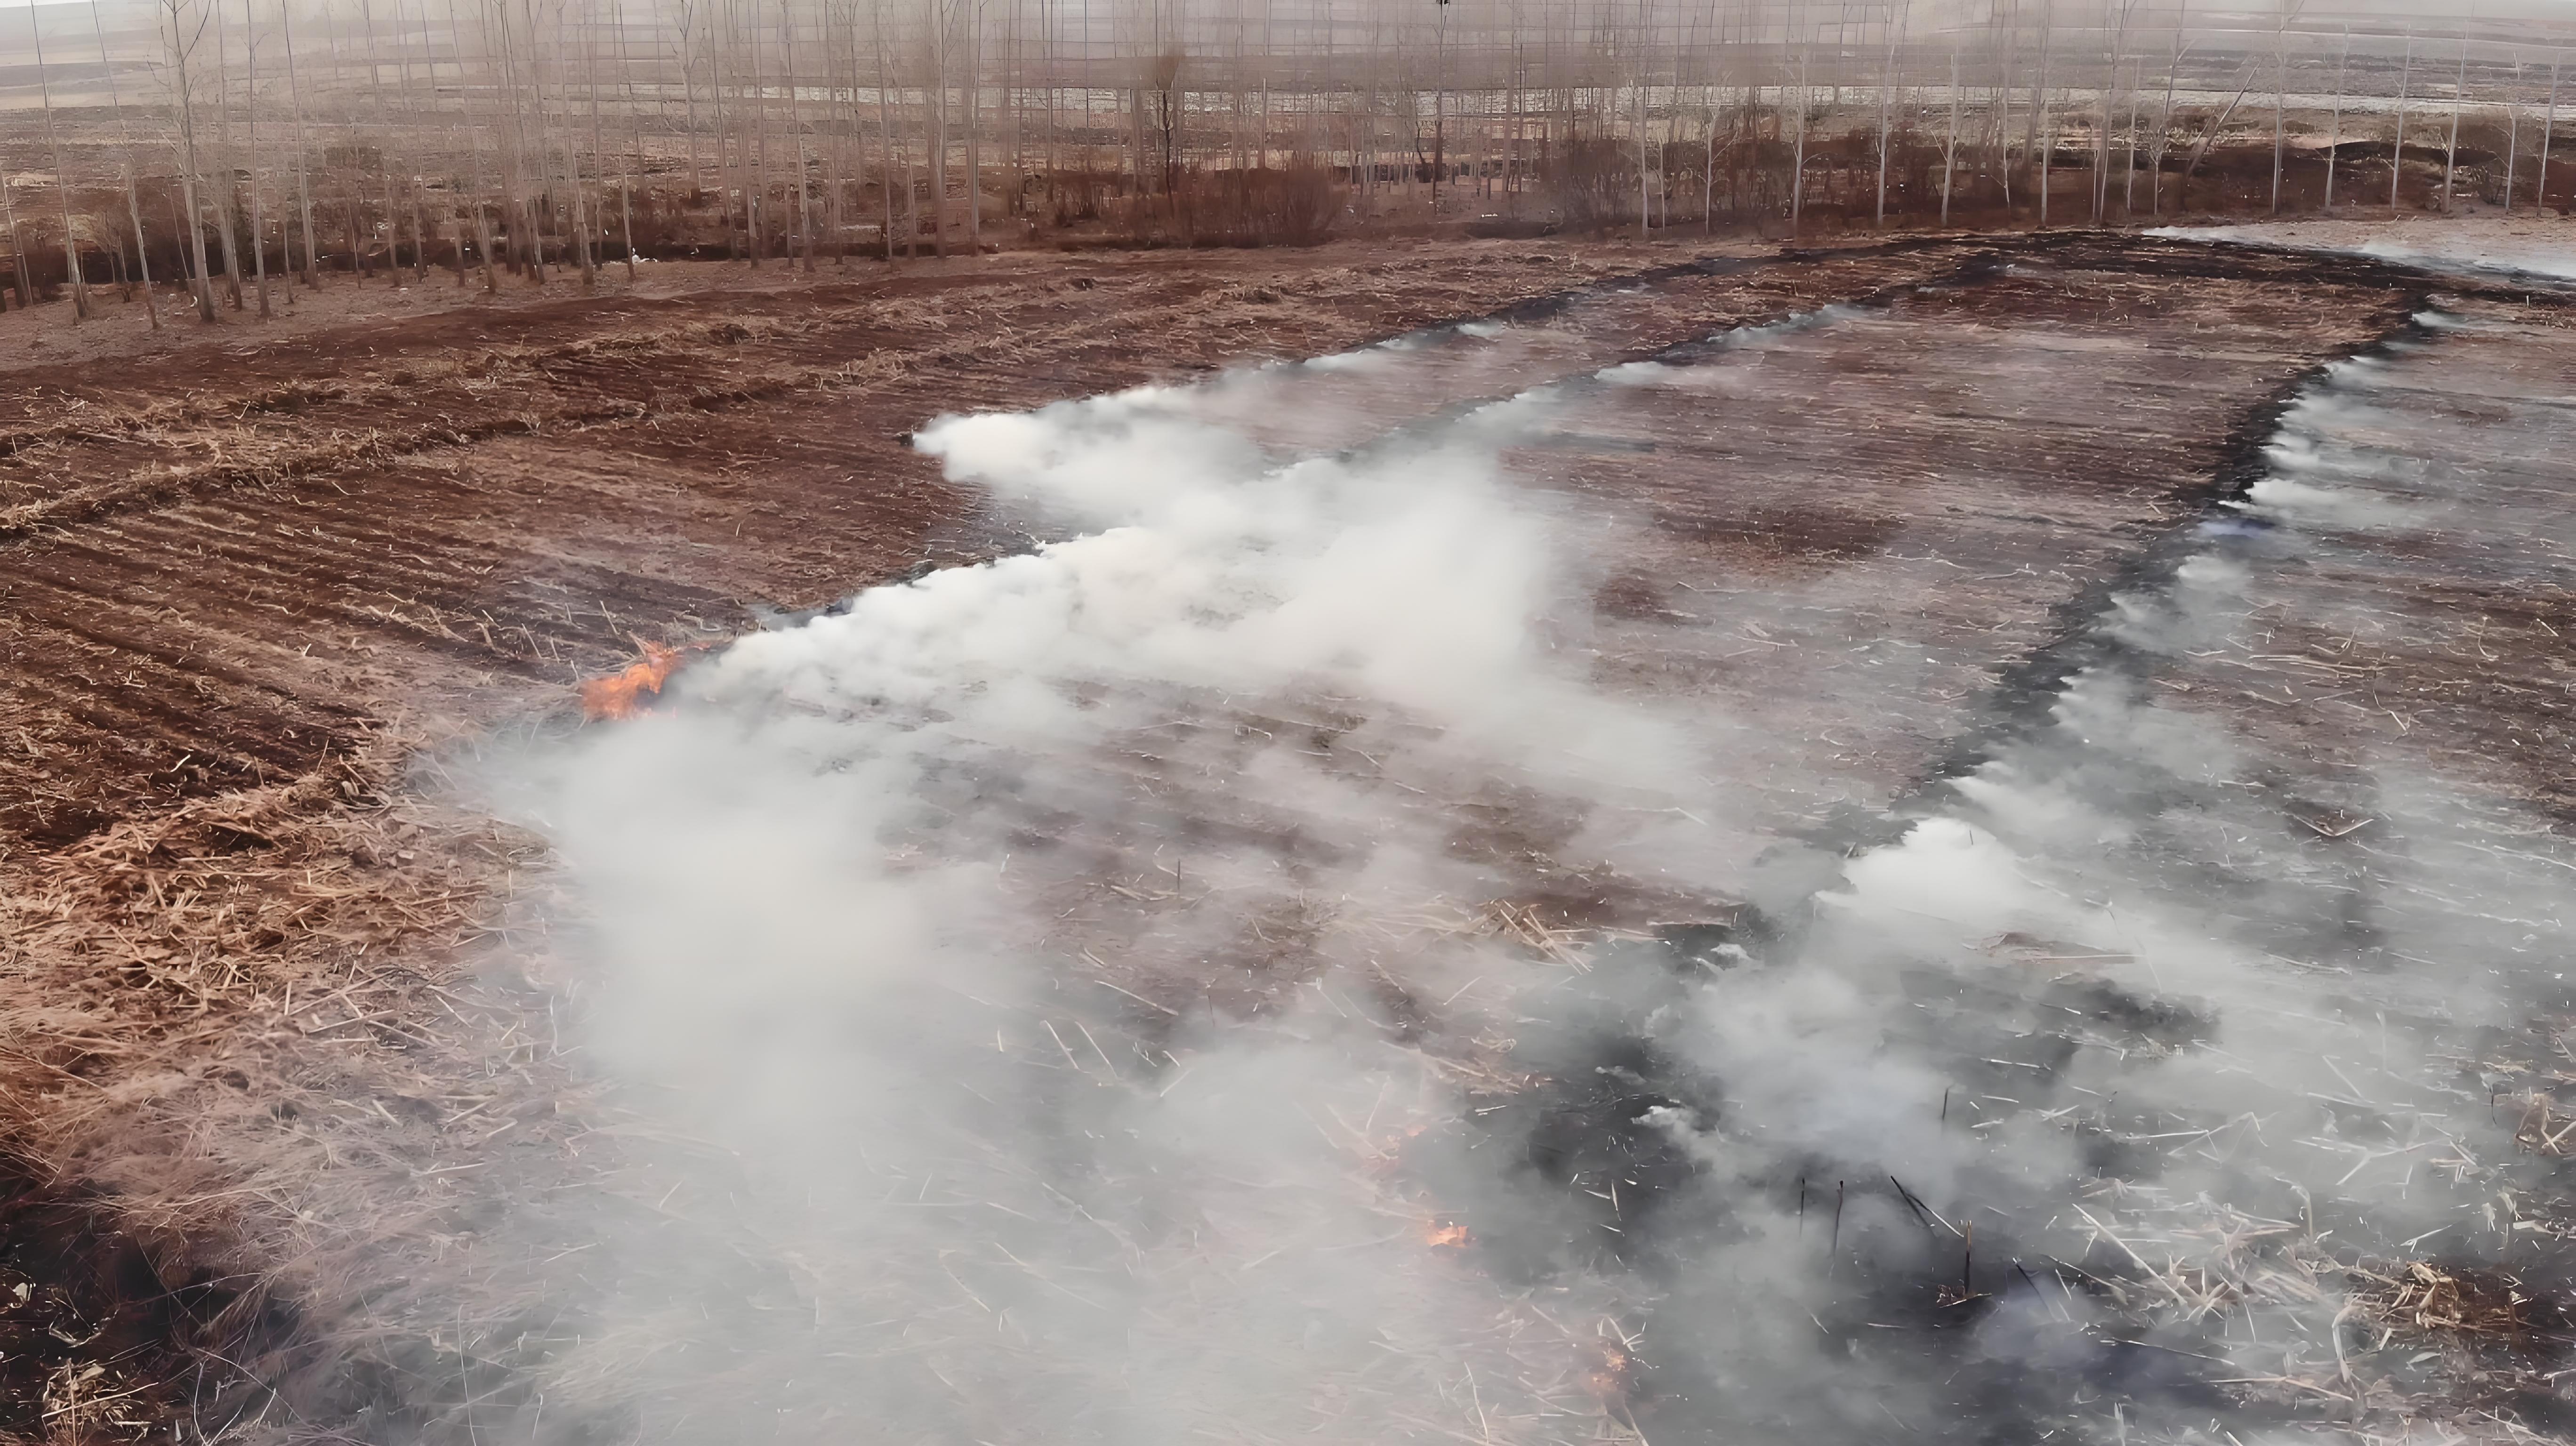
[[[667,1186],[567,1418],[2257,1441],[2416,1384],[2354,1374],[2347,1266],[2512,1229],[2455,1052],[2563,949],[2566,863],[2195,699],[2249,629],[2354,626],[2303,570],[2429,505],[2372,436],[2416,353],[2318,379],[2045,722],[1873,840],[1765,838],[1723,699],[1597,680],[1643,521],[1507,451],[1600,381],[1723,425],[1744,348],[1850,314],[1334,454],[1257,438],[1409,348],[925,428],[1069,541],[538,766]]]

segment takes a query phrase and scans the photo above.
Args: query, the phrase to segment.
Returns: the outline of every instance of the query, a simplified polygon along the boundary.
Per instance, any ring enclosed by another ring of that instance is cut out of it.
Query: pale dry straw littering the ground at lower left
[[[216,1423],[291,1433],[435,1397],[389,1379],[438,1356],[425,1309],[448,1356],[528,1309],[526,1284],[459,1276],[453,1222],[495,1137],[569,1134],[559,1046],[526,1036],[544,1005],[477,967],[523,928],[507,902],[538,848],[392,802],[384,773],[337,760],[0,861],[0,1134],[95,1199],[165,1289],[222,1284],[173,1340]],[[106,1366],[49,1392],[59,1438],[175,1410],[170,1382],[111,1392]]]

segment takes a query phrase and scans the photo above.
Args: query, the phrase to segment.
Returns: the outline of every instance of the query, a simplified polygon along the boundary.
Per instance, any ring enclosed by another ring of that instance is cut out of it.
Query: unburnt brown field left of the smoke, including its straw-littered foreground
[[[201,1423],[250,1394],[345,1418],[471,1376],[386,1289],[469,1209],[471,1175],[428,1160],[489,1147],[495,1121],[569,1160],[587,1124],[556,1113],[536,995],[477,977],[538,853],[407,786],[425,745],[567,717],[639,639],[989,552],[902,443],[940,410],[1332,351],[1669,260],[1041,258],[770,271],[762,291],[706,268],[672,296],[312,307],[31,361],[0,459],[0,959],[39,1193],[113,1193],[170,1289],[234,1281],[173,1335],[286,1348],[191,1382]],[[118,1294],[80,1258],[57,1271]],[[180,1410],[173,1382],[113,1369],[137,1420]]]

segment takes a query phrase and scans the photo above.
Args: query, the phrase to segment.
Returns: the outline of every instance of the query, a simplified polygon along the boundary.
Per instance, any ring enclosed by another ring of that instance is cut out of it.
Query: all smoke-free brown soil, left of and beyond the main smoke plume
[[[1705,260],[1327,247],[523,304],[273,345],[242,327],[149,366],[18,371],[10,1129],[31,1178],[144,1242],[137,1289],[224,1289],[170,1325],[219,1366],[137,1379],[124,1415],[46,1397],[52,1418],[0,1428],[188,1412],[394,1438],[518,1405],[492,1400],[497,1343],[551,1317],[533,1276],[474,1255],[487,1181],[544,1193],[613,1142],[551,1028],[549,990],[577,985],[505,967],[544,956],[513,907],[541,851],[456,812],[425,745],[569,722],[574,683],[644,642],[716,642],[1015,546],[1041,523],[907,446],[938,412],[1553,317],[1499,363],[1270,423],[1280,446],[1347,446],[1844,302],[1762,351],[1726,428],[1638,392],[1618,425],[1515,459],[1651,518],[1597,598],[1602,670],[1623,629],[1674,613],[1716,637],[1705,619],[1741,611],[1741,647],[1656,662],[1651,686],[1723,691],[1772,776],[1837,778],[1837,799],[1762,799],[1757,830],[1829,835],[2048,683],[2053,642],[2246,464],[2287,389],[2437,289],[2460,286],[2117,237]],[[1886,668],[1917,678],[1919,711],[1832,706],[1844,675]],[[1551,876],[1525,902],[1613,907]]]

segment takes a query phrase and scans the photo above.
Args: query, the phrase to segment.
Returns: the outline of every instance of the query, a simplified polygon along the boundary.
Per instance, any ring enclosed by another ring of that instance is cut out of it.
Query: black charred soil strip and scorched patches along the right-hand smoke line
[[[2282,255],[2282,260],[2311,263],[2300,255]],[[2375,343],[2352,353],[2357,361],[2385,361],[2416,343],[2439,343],[2442,327],[2419,317],[2437,294],[2460,294],[2447,281],[2411,268],[2375,268],[2365,284],[2388,291],[2383,307],[2388,327]],[[2481,289],[2470,286],[2468,291]],[[2499,296],[2483,299],[2561,314],[2576,312],[2576,296],[2550,289],[2504,289]],[[2133,678],[2164,673],[2166,668],[2156,657],[2123,644],[2105,626],[2112,595],[2161,595],[2187,557],[2210,549],[2205,523],[2236,518],[2228,503],[2244,500],[2251,485],[2272,472],[2264,448],[2277,441],[2290,407],[2321,384],[2336,361],[2344,358],[2293,376],[2244,415],[2228,433],[2208,485],[2187,497],[2190,508],[2146,549],[2056,611],[2056,637],[2002,673],[1986,701],[1986,722],[1958,740],[1958,747],[1919,781],[1904,807],[1880,820],[1821,833],[1814,843],[1837,853],[1893,843],[1922,815],[1932,812],[1932,796],[1950,778],[1971,773],[2017,737],[2045,729],[2063,683],[2076,673],[2097,668],[2117,668]],[[1728,1232],[1731,1222],[1677,1204],[1690,1201],[1687,1186],[1703,1165],[1674,1142],[1667,1121],[1677,1116],[1700,1132],[1721,1129],[1726,1088],[1723,1080],[1677,1062],[1656,1039],[1636,1034],[1633,1021],[1651,1018],[1659,1008],[1680,1008],[1687,982],[1700,972],[1793,961],[1795,941],[1803,933],[1801,923],[1795,910],[1788,918],[1741,910],[1726,925],[1669,933],[1654,946],[1613,949],[1592,974],[1569,979],[1561,998],[1538,1010],[1566,1021],[1577,1044],[1522,1052],[1517,1065],[1538,1085],[1484,1101],[1473,1126],[1453,1139],[1427,1142],[1417,1165],[1437,1181],[1458,1150],[1494,1144],[1522,1160],[1533,1181],[1561,1193],[1561,1211],[1595,1217],[1595,1235],[1574,1242],[1577,1258],[1589,1253],[1613,1268],[1636,1271],[1667,1294],[1664,1307],[1633,1322],[1638,1335],[1654,1338],[1654,1317],[1667,1309],[1685,1322],[1723,1312],[1723,1286],[1695,1278],[1690,1248],[1708,1240],[1710,1232]],[[2063,992],[2050,1003],[2092,1021],[2110,1036],[2133,1036],[2141,1044],[2184,1046],[2215,1026],[2215,1021],[2195,1018],[2179,1005],[2141,1000],[2110,985]],[[2009,1005],[2012,1000],[1999,995],[1986,1003],[1986,1013],[2007,1018]],[[2566,1013],[2563,1000],[2553,1000],[2550,1008]],[[1981,1010],[1968,1008],[1965,1013],[1973,1018]],[[2030,1049],[2032,1041],[1996,1031],[1960,1044],[1960,1057],[2027,1057]],[[2056,1072],[2074,1049],[2071,1039],[2058,1041],[2056,1057],[2043,1052],[2027,1067]],[[2110,1142],[2102,1147],[2107,1152],[2097,1160],[2099,1170],[2128,1175],[2136,1168]],[[1914,1384],[1945,1405],[1935,1418],[1904,1420],[1909,1436],[1929,1441],[2043,1438],[2076,1425],[2066,1407],[2074,1400],[2130,1400],[2169,1412],[2226,1410],[2241,1425],[2293,1423],[2311,1415],[2285,1400],[2239,1400],[2223,1389],[2236,1382],[2236,1366],[2213,1371],[2210,1364],[2190,1353],[2123,1340],[2115,1333],[2045,1333],[2048,1338],[2040,1338],[2027,1325],[2007,1322],[2007,1343],[1973,1340],[1976,1330],[2022,1291],[2030,1302],[2043,1302],[2040,1309],[2048,1309],[2050,1291],[2107,1302],[2110,1289],[2102,1281],[2128,1276],[2128,1263],[2107,1248],[2102,1258],[2074,1263],[2027,1255],[2009,1229],[1989,1229],[1971,1248],[1960,1242],[1955,1229],[1937,1229],[1904,1181],[1842,1181],[1839,1173],[1844,1170],[1829,1160],[1811,1160],[1806,1168],[1785,1168],[1767,1181],[1767,1191],[1780,1214],[1798,1211],[1806,1219],[1808,1209],[1819,1217],[1832,1209],[1837,1227],[1847,1191],[1850,1196],[1896,1201],[1899,1209],[1922,1219],[1927,1237],[1922,1250],[1888,1253],[1873,1268],[1855,1273],[1837,1294],[1834,1307],[1816,1320],[1829,1340],[1844,1343],[1855,1353],[1870,1348],[1880,1364],[1893,1361],[1899,1369],[1909,1369]],[[1602,1193],[1602,1186],[1610,1186],[1615,1196]],[[2548,1191],[2543,1188],[2543,1193]],[[1618,1209],[1597,1201],[1615,1201]],[[1476,1229],[1489,1268],[1504,1278],[1540,1281],[1566,1268],[1566,1242],[1548,1229],[1528,1232],[1528,1217],[1494,1211],[1461,1219]],[[1821,1219],[1819,1229],[1826,1229]],[[2543,1371],[2566,1361],[2571,1338],[2566,1333],[2563,1266],[2543,1260],[2519,1278],[2496,1276],[2481,1266],[2447,1263],[2447,1268],[2470,1281],[2473,1289],[2491,1289],[2499,1299],[2512,1294],[2512,1312],[2499,1307],[2499,1320],[2512,1315],[2514,1325],[2488,1351],[2499,1376],[2512,1376],[2514,1369]],[[2524,1297],[2514,1286],[2537,1294]],[[1783,1322],[1783,1330],[1795,1327],[1795,1322]],[[1873,1335],[1878,1330],[1893,1335]],[[1726,1441],[1741,1431],[1798,1431],[1834,1441],[1844,1438],[1837,1431],[1850,1431],[1850,1438],[1868,1441],[1883,1433],[1883,1423],[1868,1420],[1819,1425],[1819,1420],[1806,1418],[1744,1418],[1731,1405],[1734,1394],[1728,1382],[1705,1379],[1687,1369],[1677,1371],[1654,1361],[1651,1351],[1633,1364],[1625,1379],[1628,1407],[1656,1438]],[[2537,1428],[2563,1428],[2568,1418],[2568,1407],[2545,1392],[2512,1397],[2506,1410]],[[1832,1415],[1837,1412],[1829,1410],[1826,1418]]]

